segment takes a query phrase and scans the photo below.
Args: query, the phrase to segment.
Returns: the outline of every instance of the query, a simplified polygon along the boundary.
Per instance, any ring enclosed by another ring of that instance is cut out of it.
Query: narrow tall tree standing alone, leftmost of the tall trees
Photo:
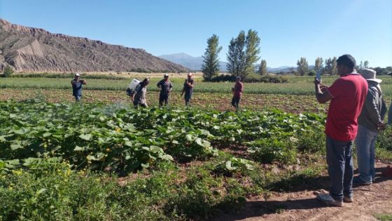
[[[207,48],[204,52],[202,72],[203,77],[207,81],[211,80],[219,73],[219,58],[218,54],[221,52],[222,47],[219,46],[219,38],[213,34],[207,39]]]

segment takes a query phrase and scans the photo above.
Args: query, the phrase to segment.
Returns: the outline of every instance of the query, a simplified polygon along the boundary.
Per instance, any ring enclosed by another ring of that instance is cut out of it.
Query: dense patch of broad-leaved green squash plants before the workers
[[[248,147],[262,163],[290,163],[303,134],[323,136],[324,116],[8,101],[0,102],[0,121],[0,168],[56,157],[76,168],[124,173],[156,161],[207,159],[231,146]]]

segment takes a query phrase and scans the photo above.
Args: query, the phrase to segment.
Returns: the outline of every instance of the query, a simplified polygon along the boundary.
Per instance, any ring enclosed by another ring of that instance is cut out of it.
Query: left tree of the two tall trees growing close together
[[[234,76],[241,76],[245,72],[245,32],[239,32],[237,38],[231,39],[229,51],[226,54],[228,64],[226,65],[228,72]]]

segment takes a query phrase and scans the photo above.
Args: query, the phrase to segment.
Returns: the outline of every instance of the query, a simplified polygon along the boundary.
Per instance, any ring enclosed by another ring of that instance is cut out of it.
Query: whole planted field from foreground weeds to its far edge
[[[70,79],[0,79],[0,220],[214,220],[252,196],[328,189],[328,105],[316,103],[311,77],[245,83],[238,113],[233,83],[201,79],[192,107],[177,78],[160,109],[158,80],[151,107],[134,109],[130,79],[87,79],[78,103]],[[392,163],[391,127],[376,154]]]

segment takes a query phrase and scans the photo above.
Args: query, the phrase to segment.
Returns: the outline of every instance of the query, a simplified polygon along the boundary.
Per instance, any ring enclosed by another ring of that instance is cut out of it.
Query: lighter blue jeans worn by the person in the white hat
[[[358,156],[358,173],[360,180],[371,182],[376,175],[374,168],[375,144],[377,140],[377,132],[369,130],[364,126],[358,127],[355,145],[356,154]]]

